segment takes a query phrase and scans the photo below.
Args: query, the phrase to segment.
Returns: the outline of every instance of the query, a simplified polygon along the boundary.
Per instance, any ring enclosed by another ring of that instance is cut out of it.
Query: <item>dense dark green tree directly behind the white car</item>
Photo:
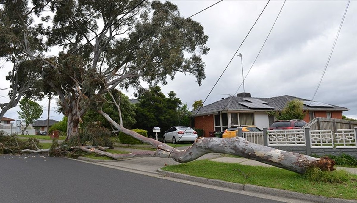
[[[159,86],[154,86],[139,93],[138,99],[140,103],[136,104],[134,128],[147,130],[150,134],[153,127],[160,127],[164,132],[171,126],[178,125],[177,109],[182,102],[173,91],[166,97]],[[162,132],[160,134],[163,134]]]

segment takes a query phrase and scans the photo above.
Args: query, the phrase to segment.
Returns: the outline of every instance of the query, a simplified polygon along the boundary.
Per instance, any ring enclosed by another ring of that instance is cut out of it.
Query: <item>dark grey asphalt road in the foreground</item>
[[[44,155],[0,155],[0,202],[278,201]]]

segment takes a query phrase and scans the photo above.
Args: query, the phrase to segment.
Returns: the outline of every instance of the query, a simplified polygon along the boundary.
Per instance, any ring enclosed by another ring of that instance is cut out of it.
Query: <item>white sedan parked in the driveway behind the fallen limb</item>
[[[190,127],[174,126],[167,130],[162,138],[162,142],[194,142],[197,139],[197,132]]]

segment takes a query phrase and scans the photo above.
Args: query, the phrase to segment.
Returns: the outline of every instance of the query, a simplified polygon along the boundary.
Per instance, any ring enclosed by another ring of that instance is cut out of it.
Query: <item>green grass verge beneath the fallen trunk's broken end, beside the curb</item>
[[[232,183],[253,184],[305,194],[357,200],[357,175],[351,175],[351,179],[346,183],[332,184],[314,182],[300,174],[275,167],[253,167],[209,160],[197,160],[190,163],[167,166],[162,170]],[[248,178],[245,178],[243,173]]]

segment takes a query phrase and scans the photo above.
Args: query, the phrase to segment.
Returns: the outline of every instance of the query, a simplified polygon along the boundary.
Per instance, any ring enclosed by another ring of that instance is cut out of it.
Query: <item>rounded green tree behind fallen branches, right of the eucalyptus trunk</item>
[[[114,99],[119,103],[123,120],[123,127],[131,129],[132,125],[135,124],[135,110],[136,107],[129,101],[129,98],[121,93],[120,91],[114,89],[111,90],[111,94],[114,96]],[[104,94],[104,100],[102,101],[101,108],[104,112],[110,115],[110,118],[115,120],[117,123],[120,122],[119,111],[117,110],[114,102],[109,93]],[[94,109],[89,109],[84,114],[83,117],[83,127],[85,128],[90,123],[100,122],[100,124],[112,130],[112,125]]]

